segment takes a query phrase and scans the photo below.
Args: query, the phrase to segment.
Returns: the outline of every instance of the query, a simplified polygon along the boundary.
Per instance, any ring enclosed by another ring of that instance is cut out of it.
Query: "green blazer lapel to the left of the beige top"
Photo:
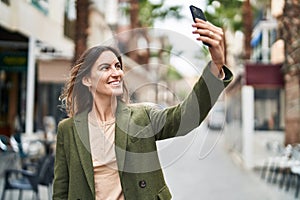
[[[74,117],[74,135],[83,171],[85,173],[91,192],[95,196],[94,171],[89,141],[87,116],[88,111],[84,111]]]

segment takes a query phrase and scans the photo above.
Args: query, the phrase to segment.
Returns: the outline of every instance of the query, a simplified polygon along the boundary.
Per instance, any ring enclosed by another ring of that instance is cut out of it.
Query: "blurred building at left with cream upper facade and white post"
[[[56,97],[74,49],[65,14],[65,1],[0,1],[1,134],[42,126],[42,116],[59,117]]]

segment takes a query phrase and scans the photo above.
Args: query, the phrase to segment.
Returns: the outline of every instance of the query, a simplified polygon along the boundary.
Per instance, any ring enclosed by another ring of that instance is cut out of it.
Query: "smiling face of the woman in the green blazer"
[[[89,76],[83,84],[90,88],[93,96],[120,96],[123,94],[123,77],[121,63],[111,51],[104,51],[94,63]]]

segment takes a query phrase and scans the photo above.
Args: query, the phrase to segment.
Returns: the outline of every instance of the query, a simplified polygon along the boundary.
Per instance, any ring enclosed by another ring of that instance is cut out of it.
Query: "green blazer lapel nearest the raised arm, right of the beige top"
[[[115,151],[121,177],[123,171],[125,170],[124,163],[126,157],[127,133],[129,128],[130,116],[130,108],[123,102],[119,101],[116,113]]]

